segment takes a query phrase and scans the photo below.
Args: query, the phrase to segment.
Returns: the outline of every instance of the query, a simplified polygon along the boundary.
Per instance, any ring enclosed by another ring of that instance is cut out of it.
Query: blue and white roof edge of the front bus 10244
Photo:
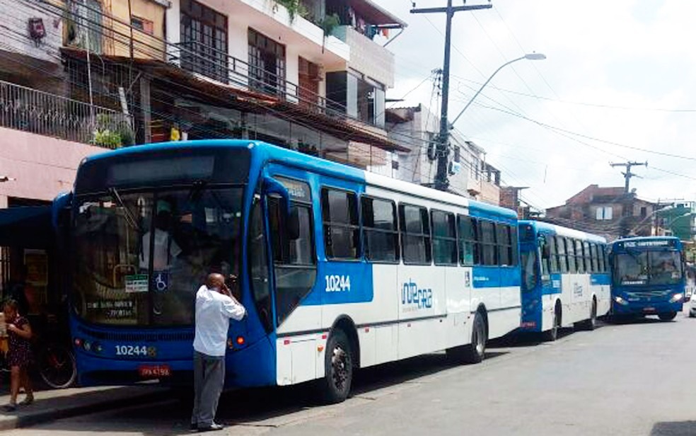
[[[334,161],[328,161],[327,159],[311,156],[291,149],[284,149],[283,147],[278,147],[272,144],[268,144],[266,142],[245,139],[204,139],[195,141],[161,142],[158,144],[137,145],[133,147],[124,147],[122,149],[110,150],[104,153],[95,154],[84,159],[83,163],[100,159],[110,159],[115,156],[147,154],[153,151],[166,151],[177,149],[190,150],[193,147],[245,148],[249,149],[252,154],[259,155],[260,159],[258,161],[261,164],[264,164],[267,161],[283,162],[284,164],[289,164],[291,166],[298,166],[301,168],[306,168],[310,171],[323,173],[327,176],[344,179],[347,178],[349,180],[366,183],[368,185],[373,185],[379,188],[398,191],[407,195],[415,195],[417,197],[423,197],[429,200],[436,200],[441,202],[447,202],[452,205],[458,205],[461,207],[468,207],[471,212],[477,212],[477,214],[483,216],[494,215],[496,217],[504,217],[507,219],[517,218],[516,212],[514,212],[513,210],[506,209],[504,207],[489,205],[487,203],[479,202],[476,200],[469,200],[468,198],[462,197],[460,195],[443,193],[442,191],[427,188],[422,185],[417,185],[415,183],[397,180],[395,178],[381,176],[375,173],[369,173],[367,171],[355,168],[353,166],[339,164]]]

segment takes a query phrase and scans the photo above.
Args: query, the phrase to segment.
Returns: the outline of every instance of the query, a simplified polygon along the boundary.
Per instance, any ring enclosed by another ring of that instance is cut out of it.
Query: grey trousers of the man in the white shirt
[[[218,400],[225,383],[225,357],[194,352],[193,356],[193,413],[192,425],[206,428],[212,425]]]

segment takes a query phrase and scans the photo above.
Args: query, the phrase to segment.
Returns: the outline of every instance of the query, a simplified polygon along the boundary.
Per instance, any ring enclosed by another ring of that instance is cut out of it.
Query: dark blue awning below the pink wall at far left
[[[0,246],[50,248],[54,242],[51,206],[0,209]]]

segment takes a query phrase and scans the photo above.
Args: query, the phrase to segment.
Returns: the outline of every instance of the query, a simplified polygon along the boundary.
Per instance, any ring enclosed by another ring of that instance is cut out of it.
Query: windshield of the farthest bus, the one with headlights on
[[[639,251],[615,258],[616,285],[675,285],[682,278],[678,251]]]

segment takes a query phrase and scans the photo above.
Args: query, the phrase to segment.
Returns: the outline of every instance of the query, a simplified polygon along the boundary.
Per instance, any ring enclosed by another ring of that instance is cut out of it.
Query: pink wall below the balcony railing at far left
[[[107,149],[0,127],[0,207],[7,197],[53,200],[72,190],[77,167],[86,156]]]

